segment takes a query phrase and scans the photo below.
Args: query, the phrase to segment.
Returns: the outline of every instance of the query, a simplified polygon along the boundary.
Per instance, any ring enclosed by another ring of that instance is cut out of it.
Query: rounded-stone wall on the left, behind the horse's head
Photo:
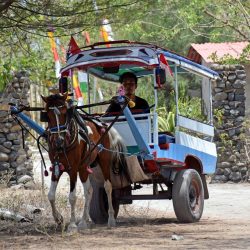
[[[0,182],[9,186],[34,186],[33,163],[28,142],[23,149],[20,126],[9,115],[9,102],[28,104],[30,80],[25,71],[16,73],[1,94],[0,101]],[[27,135],[25,135],[27,137]]]

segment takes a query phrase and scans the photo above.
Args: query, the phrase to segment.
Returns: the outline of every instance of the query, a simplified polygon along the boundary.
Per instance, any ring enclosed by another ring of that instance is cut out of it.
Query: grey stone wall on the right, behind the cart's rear
[[[246,72],[241,65],[216,66],[221,79],[213,85],[215,142],[218,162],[212,182],[249,181],[249,161],[245,150]]]

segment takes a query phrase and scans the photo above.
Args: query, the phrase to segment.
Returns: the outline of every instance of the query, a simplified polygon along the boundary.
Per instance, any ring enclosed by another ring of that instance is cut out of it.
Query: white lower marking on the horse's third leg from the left
[[[93,193],[93,188],[91,186],[89,177],[86,180],[86,182],[82,183],[82,185],[84,189],[85,202],[84,202],[84,210],[83,210],[82,219],[78,225],[79,230],[88,228],[87,223],[91,221],[90,216],[89,216],[89,205],[90,205],[90,201],[91,201],[92,193]]]

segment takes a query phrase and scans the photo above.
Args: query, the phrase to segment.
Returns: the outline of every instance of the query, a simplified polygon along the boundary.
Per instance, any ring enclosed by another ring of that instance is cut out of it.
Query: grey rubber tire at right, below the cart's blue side
[[[172,199],[179,222],[193,223],[200,220],[204,207],[204,188],[196,170],[185,169],[177,173]]]

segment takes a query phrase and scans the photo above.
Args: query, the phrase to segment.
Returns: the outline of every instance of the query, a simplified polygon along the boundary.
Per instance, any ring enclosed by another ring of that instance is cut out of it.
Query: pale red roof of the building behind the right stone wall
[[[222,58],[225,55],[239,58],[243,49],[246,48],[248,44],[249,42],[247,41],[204,44],[192,43],[187,57],[197,63],[201,63],[202,59],[207,63],[213,62],[213,60],[209,58],[213,53],[216,53],[218,58]]]

